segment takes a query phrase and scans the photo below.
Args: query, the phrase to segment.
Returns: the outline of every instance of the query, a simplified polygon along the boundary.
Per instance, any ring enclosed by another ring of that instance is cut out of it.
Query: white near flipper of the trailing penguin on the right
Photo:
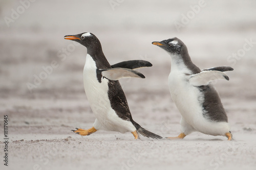
[[[206,86],[209,82],[223,79],[229,80],[228,76],[221,71],[201,71],[198,74],[191,75],[189,83],[193,86]]]

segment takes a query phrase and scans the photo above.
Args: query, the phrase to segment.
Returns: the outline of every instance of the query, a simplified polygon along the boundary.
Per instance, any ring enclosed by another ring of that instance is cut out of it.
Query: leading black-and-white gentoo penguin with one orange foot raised
[[[120,78],[127,77],[145,78],[134,69],[152,66],[152,64],[143,60],[132,60],[110,65],[102,52],[100,41],[94,34],[86,32],[67,35],[64,38],[87,47],[83,83],[96,117],[92,128],[88,130],[76,128],[72,131],[86,136],[102,129],[121,133],[131,132],[135,139],[139,137],[138,133],[146,137],[161,139],[161,136],[145,130],[133,120],[125,94],[118,81]]]

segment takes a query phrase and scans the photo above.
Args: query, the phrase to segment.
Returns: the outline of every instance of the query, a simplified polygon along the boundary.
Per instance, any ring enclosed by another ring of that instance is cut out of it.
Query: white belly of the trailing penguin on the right
[[[170,94],[182,115],[183,121],[185,120],[187,124],[193,127],[187,126],[190,129],[185,127],[183,130],[185,129],[188,132],[199,131],[210,135],[225,135],[229,131],[228,124],[225,122],[211,122],[203,116],[204,95],[197,87],[190,85],[187,78],[188,76],[184,72],[176,70],[172,70],[168,78]]]

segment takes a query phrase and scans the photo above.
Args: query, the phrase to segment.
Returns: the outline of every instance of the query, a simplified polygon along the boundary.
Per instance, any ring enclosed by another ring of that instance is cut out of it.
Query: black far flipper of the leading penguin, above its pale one
[[[129,69],[137,69],[141,67],[151,67],[152,64],[145,60],[130,60],[130,61],[123,61],[120,63],[116,63],[111,65],[112,68],[129,68]]]

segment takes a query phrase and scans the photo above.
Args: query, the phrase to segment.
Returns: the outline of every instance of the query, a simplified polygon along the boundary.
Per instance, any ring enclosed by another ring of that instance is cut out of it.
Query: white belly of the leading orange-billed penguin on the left
[[[83,68],[83,84],[87,98],[95,114],[95,129],[118,131],[121,133],[135,131],[136,128],[127,120],[123,120],[112,109],[109,96],[109,80],[101,78],[99,83],[96,76],[96,63],[92,57],[87,54],[86,64]]]

